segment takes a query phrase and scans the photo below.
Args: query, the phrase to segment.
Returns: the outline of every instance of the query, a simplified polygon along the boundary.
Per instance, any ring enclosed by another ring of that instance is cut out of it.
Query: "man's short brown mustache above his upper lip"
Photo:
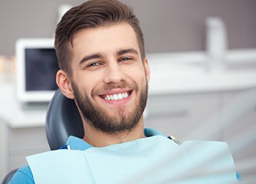
[[[138,91],[138,84],[136,82],[132,82],[131,84],[128,82],[120,82],[118,84],[109,83],[102,86],[101,89],[95,89],[92,91],[93,95],[100,95],[106,93],[106,91],[114,90],[114,89],[130,89]]]

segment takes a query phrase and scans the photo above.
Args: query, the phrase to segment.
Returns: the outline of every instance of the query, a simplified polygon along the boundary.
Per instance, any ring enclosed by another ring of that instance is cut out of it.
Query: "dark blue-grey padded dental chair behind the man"
[[[46,137],[50,150],[65,146],[70,135],[83,138],[82,119],[74,100],[66,98],[60,90],[56,90],[46,113]],[[11,170],[1,183],[10,182],[17,170]]]

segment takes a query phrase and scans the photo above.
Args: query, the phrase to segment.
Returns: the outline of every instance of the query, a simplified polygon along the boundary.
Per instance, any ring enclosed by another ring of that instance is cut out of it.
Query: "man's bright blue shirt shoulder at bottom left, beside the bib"
[[[17,170],[13,178],[10,181],[11,184],[15,183],[34,183],[33,174],[30,170],[30,166],[23,166]]]

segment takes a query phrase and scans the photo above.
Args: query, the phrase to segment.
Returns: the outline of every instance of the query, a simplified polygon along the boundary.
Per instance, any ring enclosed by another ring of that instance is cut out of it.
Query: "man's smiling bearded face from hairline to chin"
[[[132,27],[80,30],[71,50],[71,86],[87,122],[110,134],[142,122],[150,70]]]

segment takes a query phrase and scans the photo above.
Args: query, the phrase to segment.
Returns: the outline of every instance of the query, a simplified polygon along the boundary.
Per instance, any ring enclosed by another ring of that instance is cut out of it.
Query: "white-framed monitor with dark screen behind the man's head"
[[[19,102],[50,102],[58,89],[58,59],[53,38],[22,38],[16,42]]]

